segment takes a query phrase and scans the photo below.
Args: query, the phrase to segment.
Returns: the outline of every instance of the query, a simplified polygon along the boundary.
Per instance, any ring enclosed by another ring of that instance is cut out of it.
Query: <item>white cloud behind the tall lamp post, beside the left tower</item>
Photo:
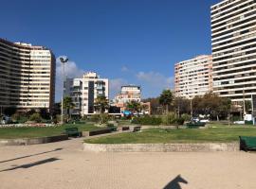
[[[56,59],[56,84],[55,84],[55,101],[61,100],[62,82],[63,82],[63,65],[58,57]],[[64,73],[66,77],[82,77],[84,71],[80,69],[76,62],[67,61],[64,64]]]

